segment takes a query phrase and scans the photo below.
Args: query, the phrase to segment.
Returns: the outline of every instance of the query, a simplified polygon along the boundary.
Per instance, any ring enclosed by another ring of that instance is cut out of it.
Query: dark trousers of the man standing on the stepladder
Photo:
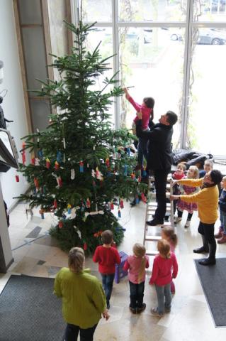
[[[157,209],[154,217],[164,220],[166,215],[166,181],[171,168],[154,170],[154,185],[156,190]]]

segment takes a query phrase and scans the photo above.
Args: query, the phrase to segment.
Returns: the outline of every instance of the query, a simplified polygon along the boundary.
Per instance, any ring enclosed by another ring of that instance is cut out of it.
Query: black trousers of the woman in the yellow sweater
[[[217,244],[214,237],[214,223],[213,224],[204,224],[204,222],[199,222],[198,232],[203,236],[203,246],[204,244],[209,245],[210,249],[210,259],[215,259]]]

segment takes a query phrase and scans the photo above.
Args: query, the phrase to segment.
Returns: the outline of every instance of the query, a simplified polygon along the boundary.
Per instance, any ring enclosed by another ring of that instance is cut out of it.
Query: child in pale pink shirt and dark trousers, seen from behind
[[[129,271],[130,283],[130,310],[132,313],[141,313],[146,308],[143,303],[145,291],[145,268],[149,267],[149,259],[146,256],[146,249],[142,244],[136,243],[133,248],[133,255],[128,256],[123,269]]]

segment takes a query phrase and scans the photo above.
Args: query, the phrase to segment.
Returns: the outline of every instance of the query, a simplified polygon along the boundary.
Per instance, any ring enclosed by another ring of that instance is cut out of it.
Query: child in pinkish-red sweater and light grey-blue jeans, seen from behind
[[[169,242],[164,239],[159,240],[157,249],[159,254],[154,258],[152,277],[149,280],[149,284],[155,285],[158,306],[157,308],[152,308],[151,313],[162,317],[164,312],[169,313],[171,310],[170,285],[172,278],[176,278],[178,265],[175,254],[170,251]],[[173,274],[171,273],[172,269]]]

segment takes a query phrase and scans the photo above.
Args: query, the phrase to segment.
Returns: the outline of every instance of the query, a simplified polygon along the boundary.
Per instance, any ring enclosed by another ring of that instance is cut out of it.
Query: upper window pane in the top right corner
[[[194,0],[194,21],[226,21],[226,0]]]

